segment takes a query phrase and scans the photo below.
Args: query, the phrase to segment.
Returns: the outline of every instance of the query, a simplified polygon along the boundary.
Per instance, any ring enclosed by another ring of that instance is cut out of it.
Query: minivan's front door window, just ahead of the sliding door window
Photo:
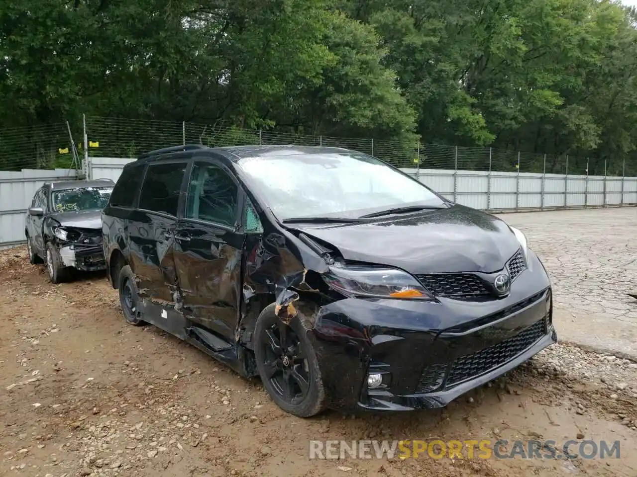
[[[188,186],[186,218],[236,225],[239,189],[220,167],[195,163]]]

